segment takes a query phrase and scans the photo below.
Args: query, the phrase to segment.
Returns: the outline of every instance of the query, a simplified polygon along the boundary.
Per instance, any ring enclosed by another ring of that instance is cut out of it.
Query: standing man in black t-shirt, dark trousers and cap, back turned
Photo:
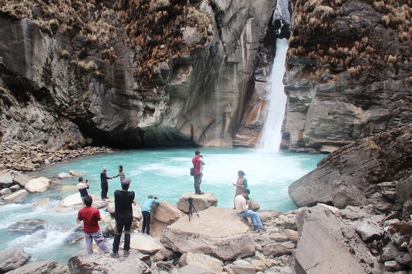
[[[130,249],[130,229],[133,221],[133,207],[136,205],[134,200],[134,191],[129,191],[131,180],[129,178],[122,181],[122,190],[114,192],[114,219],[116,225],[114,228],[113,252],[111,256],[119,258],[119,245],[122,230],[125,228],[125,245],[123,247],[124,256],[129,256]]]

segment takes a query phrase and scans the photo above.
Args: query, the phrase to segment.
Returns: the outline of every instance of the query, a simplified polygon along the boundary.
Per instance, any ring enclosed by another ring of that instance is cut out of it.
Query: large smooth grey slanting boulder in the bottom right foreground
[[[297,274],[382,273],[383,265],[352,228],[324,206],[296,215],[299,240],[295,252]]]

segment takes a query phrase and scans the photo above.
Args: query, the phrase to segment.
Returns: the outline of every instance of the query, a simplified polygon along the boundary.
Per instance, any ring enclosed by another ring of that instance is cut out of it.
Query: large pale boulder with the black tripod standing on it
[[[255,253],[255,241],[249,225],[234,210],[214,206],[180,218],[163,229],[160,242],[167,249],[180,253],[210,254],[234,260]]]

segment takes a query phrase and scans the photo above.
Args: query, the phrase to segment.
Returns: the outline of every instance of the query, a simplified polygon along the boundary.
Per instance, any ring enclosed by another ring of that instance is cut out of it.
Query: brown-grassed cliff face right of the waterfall
[[[296,1],[281,147],[330,152],[411,123],[411,1]]]

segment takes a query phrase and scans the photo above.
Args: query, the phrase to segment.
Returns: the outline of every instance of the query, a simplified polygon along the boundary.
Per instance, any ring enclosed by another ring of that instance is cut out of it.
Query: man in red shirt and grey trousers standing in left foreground
[[[84,240],[86,240],[86,250],[89,255],[93,254],[93,240],[106,256],[110,255],[110,250],[104,241],[103,233],[100,230],[98,221],[102,220],[100,211],[92,207],[93,198],[90,195],[84,196],[83,207],[78,211],[77,220],[83,221]]]

